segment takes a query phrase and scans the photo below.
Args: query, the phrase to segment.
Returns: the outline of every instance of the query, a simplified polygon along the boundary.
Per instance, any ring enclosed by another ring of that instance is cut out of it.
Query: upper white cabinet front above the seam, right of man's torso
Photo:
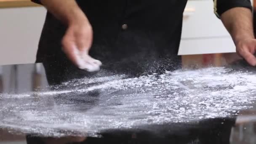
[[[183,15],[182,39],[229,36],[214,14],[213,0],[188,0]]]

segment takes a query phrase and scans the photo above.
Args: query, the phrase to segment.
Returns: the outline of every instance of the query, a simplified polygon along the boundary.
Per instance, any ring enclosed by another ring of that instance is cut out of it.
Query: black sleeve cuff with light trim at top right
[[[214,13],[220,17],[225,11],[235,8],[244,7],[252,10],[250,0],[213,0],[214,1]]]

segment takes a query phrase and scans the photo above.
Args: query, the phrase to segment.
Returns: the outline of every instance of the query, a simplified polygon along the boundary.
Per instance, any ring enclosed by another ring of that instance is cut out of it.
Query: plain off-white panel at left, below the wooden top
[[[35,62],[45,14],[43,7],[0,9],[0,64]]]

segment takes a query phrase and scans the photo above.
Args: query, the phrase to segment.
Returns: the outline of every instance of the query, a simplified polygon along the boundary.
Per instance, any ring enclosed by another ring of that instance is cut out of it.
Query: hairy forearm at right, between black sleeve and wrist
[[[244,38],[254,38],[253,17],[250,9],[232,8],[221,15],[221,20],[235,44]]]

